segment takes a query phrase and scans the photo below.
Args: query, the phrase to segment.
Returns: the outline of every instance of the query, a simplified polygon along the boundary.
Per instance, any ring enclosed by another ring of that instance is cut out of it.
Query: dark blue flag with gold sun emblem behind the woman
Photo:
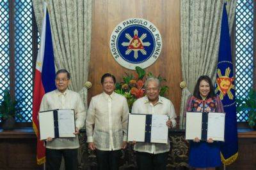
[[[225,165],[232,164],[238,156],[236,91],[234,80],[228,17],[225,3],[223,5],[221,20],[220,49],[216,77],[216,94],[220,96],[226,113],[225,142],[221,145],[221,161]]]

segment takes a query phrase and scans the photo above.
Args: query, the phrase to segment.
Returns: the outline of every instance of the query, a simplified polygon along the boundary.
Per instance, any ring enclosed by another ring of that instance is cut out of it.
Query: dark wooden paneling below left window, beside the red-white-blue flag
[[[0,169],[43,169],[36,164],[36,136],[33,129],[0,129]]]

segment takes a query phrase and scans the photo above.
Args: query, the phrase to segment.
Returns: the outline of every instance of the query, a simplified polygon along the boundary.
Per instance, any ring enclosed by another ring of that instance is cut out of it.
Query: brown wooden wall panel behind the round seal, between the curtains
[[[104,73],[112,73],[117,81],[131,70],[120,66],[109,50],[109,39],[113,29],[127,18],[145,18],[161,33],[163,48],[157,61],[146,70],[166,78],[170,88],[168,98],[179,114],[181,90],[180,68],[180,1],[177,0],[95,0],[92,18],[92,50],[88,81],[92,88],[88,91],[88,101],[102,92],[100,78]]]

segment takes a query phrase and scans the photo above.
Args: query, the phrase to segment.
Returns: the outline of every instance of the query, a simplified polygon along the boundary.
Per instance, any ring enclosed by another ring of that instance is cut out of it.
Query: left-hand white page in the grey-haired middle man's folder
[[[146,115],[129,114],[127,141],[145,141]]]

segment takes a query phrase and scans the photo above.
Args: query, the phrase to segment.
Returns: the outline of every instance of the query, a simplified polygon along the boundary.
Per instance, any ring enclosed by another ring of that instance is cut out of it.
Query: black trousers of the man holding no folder
[[[96,150],[98,170],[118,170],[121,155],[121,150]]]

